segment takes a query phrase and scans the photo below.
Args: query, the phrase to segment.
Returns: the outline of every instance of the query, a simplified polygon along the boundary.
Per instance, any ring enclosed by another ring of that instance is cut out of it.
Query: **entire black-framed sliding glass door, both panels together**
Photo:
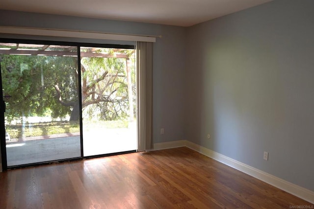
[[[132,46],[37,43],[0,43],[4,169],[135,151]]]

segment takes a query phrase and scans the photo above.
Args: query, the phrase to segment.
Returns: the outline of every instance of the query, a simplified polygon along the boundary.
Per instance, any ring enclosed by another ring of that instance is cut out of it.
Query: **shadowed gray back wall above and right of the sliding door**
[[[55,16],[0,10],[0,25],[86,30],[140,35],[162,35],[154,44],[154,121],[153,140],[167,142],[183,137],[183,70],[186,28],[148,23],[122,22],[70,16]],[[1,34],[0,38],[23,38],[84,43],[116,43],[104,40],[83,40],[55,37],[31,37]],[[121,42],[120,44],[128,44]],[[131,43],[133,44],[133,43]],[[164,128],[164,135],[160,135]]]

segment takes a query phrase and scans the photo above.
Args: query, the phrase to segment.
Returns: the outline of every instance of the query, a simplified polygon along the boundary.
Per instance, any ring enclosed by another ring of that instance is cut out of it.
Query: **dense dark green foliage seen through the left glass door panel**
[[[20,116],[43,116],[47,112],[52,117],[71,113],[71,107],[57,102],[54,85],[62,86],[64,98],[77,99],[76,58],[2,54],[0,62],[3,93],[12,96],[5,100],[8,121]],[[28,69],[21,72],[21,64],[27,64]]]

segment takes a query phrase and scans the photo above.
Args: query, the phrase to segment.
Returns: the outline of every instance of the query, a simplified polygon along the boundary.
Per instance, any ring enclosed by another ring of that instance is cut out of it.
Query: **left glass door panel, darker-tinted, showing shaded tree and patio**
[[[7,165],[80,157],[76,46],[0,43]]]

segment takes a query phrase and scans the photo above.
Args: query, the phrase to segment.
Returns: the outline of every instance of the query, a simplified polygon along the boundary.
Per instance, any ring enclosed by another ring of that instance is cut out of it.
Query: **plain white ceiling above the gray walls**
[[[0,9],[191,26],[271,0],[0,0]]]

